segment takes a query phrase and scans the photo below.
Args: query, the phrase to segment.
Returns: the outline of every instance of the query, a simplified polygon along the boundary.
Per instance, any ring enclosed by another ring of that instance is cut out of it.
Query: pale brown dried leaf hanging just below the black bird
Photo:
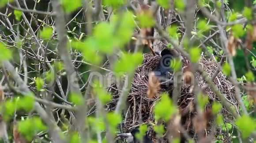
[[[148,78],[148,90],[147,96],[148,98],[154,98],[160,89],[160,82],[158,78],[155,76],[154,72],[149,74]]]

